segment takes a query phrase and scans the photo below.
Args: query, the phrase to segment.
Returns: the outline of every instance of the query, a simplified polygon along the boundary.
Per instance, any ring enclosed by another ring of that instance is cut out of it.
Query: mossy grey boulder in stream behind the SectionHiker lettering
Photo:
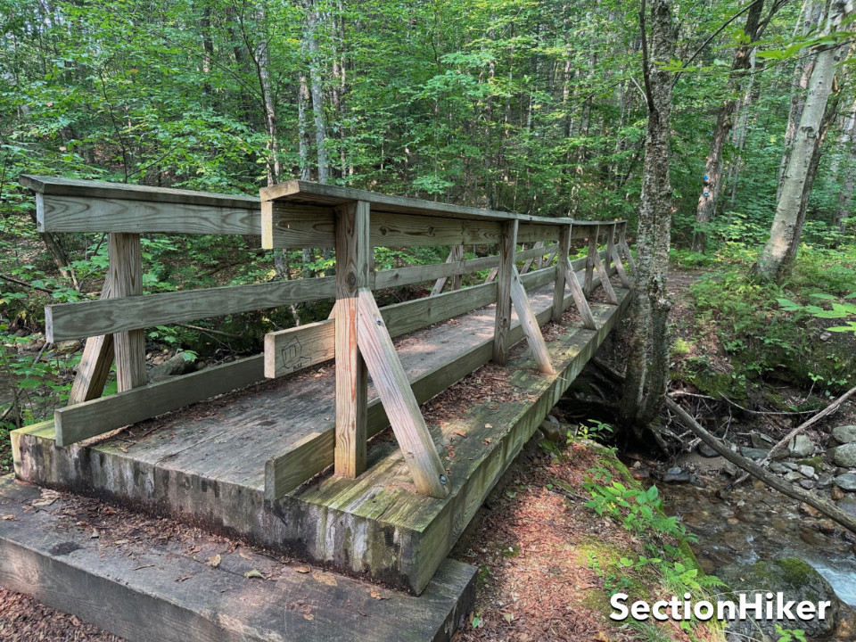
[[[839,613],[843,608],[841,600],[835,595],[829,582],[799,558],[787,557],[757,564],[731,564],[718,569],[716,576],[728,584],[733,593],[731,598],[736,601],[739,599],[737,597],[739,593],[745,593],[748,602],[751,603],[756,594],[770,591],[774,596],[779,592],[783,593],[785,602],[793,600],[799,604],[808,601],[815,605],[821,601],[831,603],[823,620],[815,617],[809,621],[799,619],[777,621],[766,618],[758,618],[754,621],[736,619],[729,621],[729,632],[746,636],[741,639],[760,640],[765,639],[763,636],[766,636],[769,639],[778,640],[781,636],[776,632],[777,624],[785,630],[802,629],[807,638],[831,636],[838,627]],[[761,600],[765,601],[765,599],[761,595]],[[792,608],[791,611],[795,618],[796,609]],[[728,636],[728,639],[738,639],[737,635]]]

